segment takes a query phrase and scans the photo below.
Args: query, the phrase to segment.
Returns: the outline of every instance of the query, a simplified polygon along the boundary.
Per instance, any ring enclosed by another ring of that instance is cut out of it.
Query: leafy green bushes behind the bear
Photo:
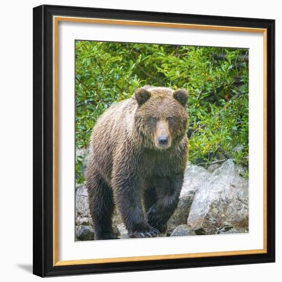
[[[189,160],[248,165],[248,50],[76,41],[75,141],[88,146],[97,118],[144,85],[189,91]],[[84,181],[76,157],[76,180]]]

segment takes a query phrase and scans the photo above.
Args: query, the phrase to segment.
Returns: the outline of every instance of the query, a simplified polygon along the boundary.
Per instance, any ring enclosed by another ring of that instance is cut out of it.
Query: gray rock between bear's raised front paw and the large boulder
[[[168,221],[167,236],[170,236],[178,225],[186,224],[194,195],[210,176],[211,174],[203,167],[188,163],[178,206]]]

